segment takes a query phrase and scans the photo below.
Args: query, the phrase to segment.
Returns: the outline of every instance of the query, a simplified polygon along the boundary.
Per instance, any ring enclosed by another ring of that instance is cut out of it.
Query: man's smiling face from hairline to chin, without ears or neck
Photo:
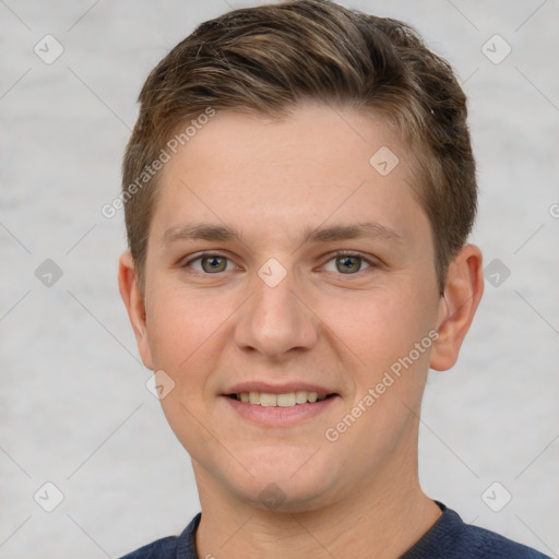
[[[322,105],[217,112],[166,164],[139,345],[199,486],[311,510],[413,463],[444,308],[414,180],[381,119]]]

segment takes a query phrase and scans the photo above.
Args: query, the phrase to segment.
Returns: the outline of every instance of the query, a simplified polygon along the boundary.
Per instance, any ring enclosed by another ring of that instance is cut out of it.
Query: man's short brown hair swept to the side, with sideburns
[[[399,131],[417,162],[414,190],[431,225],[443,293],[477,209],[466,96],[451,66],[412,26],[330,0],[290,0],[206,21],[150,73],[122,165],[128,241],[142,290],[158,176],[145,171],[178,128],[209,107],[281,118],[306,99],[370,109]],[[138,182],[142,174],[145,185]]]

